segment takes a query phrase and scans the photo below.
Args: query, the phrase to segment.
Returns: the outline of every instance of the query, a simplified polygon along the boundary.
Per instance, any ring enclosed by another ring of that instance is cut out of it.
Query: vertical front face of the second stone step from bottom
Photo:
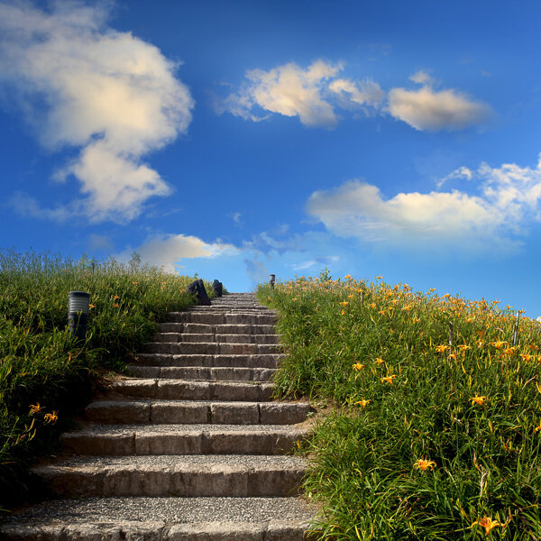
[[[237,472],[233,468],[182,471],[180,468],[104,468],[100,472],[55,468],[34,472],[50,481],[50,489],[61,496],[205,496],[285,497],[296,496],[304,469],[261,469]]]

